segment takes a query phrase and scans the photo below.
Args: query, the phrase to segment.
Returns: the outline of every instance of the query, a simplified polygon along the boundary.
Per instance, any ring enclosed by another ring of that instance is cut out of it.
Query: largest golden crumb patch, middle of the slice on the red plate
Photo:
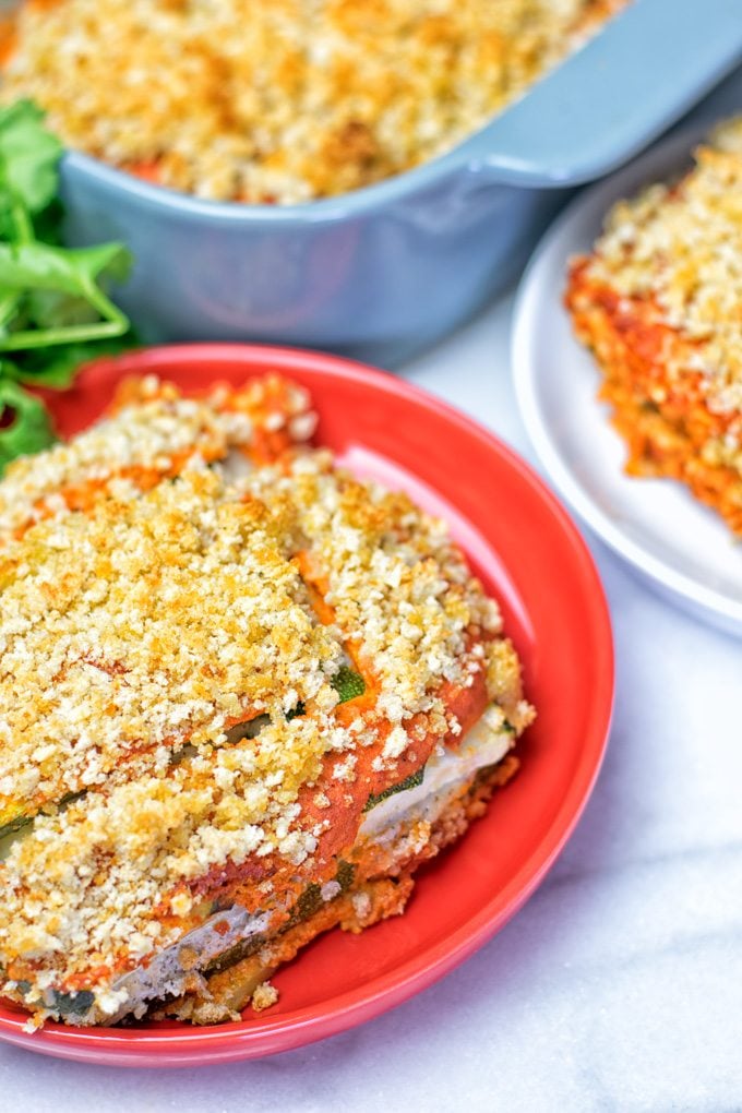
[[[0,550],[0,824],[283,716],[287,691],[334,705],[342,646],[290,542],[280,503],[187,472]]]

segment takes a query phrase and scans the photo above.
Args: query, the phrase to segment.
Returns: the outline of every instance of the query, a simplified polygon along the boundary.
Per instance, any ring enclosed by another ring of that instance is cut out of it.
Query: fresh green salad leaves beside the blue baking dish
[[[55,440],[43,403],[22,384],[63,390],[81,363],[133,342],[106,293],[127,277],[129,252],[61,244],[61,154],[31,101],[0,109],[0,473]]]

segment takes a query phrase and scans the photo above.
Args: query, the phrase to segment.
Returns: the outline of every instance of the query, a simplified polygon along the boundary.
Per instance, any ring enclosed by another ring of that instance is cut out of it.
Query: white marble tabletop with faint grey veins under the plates
[[[530,457],[511,309],[407,375]],[[0,1045],[0,1111],[742,1110],[742,641],[593,548],[617,651],[609,755],[561,859],[499,935],[396,1011],[261,1062],[123,1072]]]

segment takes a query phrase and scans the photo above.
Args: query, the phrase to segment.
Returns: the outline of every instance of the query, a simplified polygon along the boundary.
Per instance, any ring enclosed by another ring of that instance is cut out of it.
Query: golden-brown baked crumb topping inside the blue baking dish
[[[626,0],[26,0],[2,97],[150,180],[297,203],[482,127]]]

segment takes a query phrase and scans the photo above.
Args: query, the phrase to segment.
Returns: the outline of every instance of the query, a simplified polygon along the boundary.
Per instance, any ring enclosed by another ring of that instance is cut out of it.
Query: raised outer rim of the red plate
[[[497,889],[476,915],[451,933],[445,940],[372,978],[360,988],[326,999],[321,1009],[305,1007],[276,1017],[260,1016],[212,1028],[190,1028],[186,1025],[155,1031],[75,1028],[48,1022],[40,1031],[30,1034],[23,1031],[23,1015],[0,1003],[1,1040],[49,1055],[127,1066],[214,1064],[296,1048],[370,1020],[402,1004],[452,971],[486,943],[522,907],[572,834],[601,768],[611,726],[614,691],[611,620],[592,555],[557,499],[530,465],[493,433],[453,406],[386,372],[339,356],[265,345],[207,343],[144,348],[89,364],[78,378],[77,390],[83,390],[86,384],[95,383],[101,376],[158,373],[171,367],[174,363],[191,368],[207,364],[211,368],[218,364],[234,366],[239,363],[248,374],[269,366],[287,373],[301,373],[305,381],[309,381],[313,374],[324,378],[330,376],[353,381],[375,393],[405,398],[422,411],[435,413],[452,427],[457,427],[467,437],[485,445],[499,466],[515,473],[520,483],[536,495],[544,513],[551,519],[552,528],[568,546],[574,572],[582,588],[581,603],[585,608],[593,636],[592,651],[597,681],[592,690],[582,751],[568,790],[547,834],[524,859],[511,880]],[[55,396],[47,396],[53,406]],[[73,404],[75,392],[67,397]]]

